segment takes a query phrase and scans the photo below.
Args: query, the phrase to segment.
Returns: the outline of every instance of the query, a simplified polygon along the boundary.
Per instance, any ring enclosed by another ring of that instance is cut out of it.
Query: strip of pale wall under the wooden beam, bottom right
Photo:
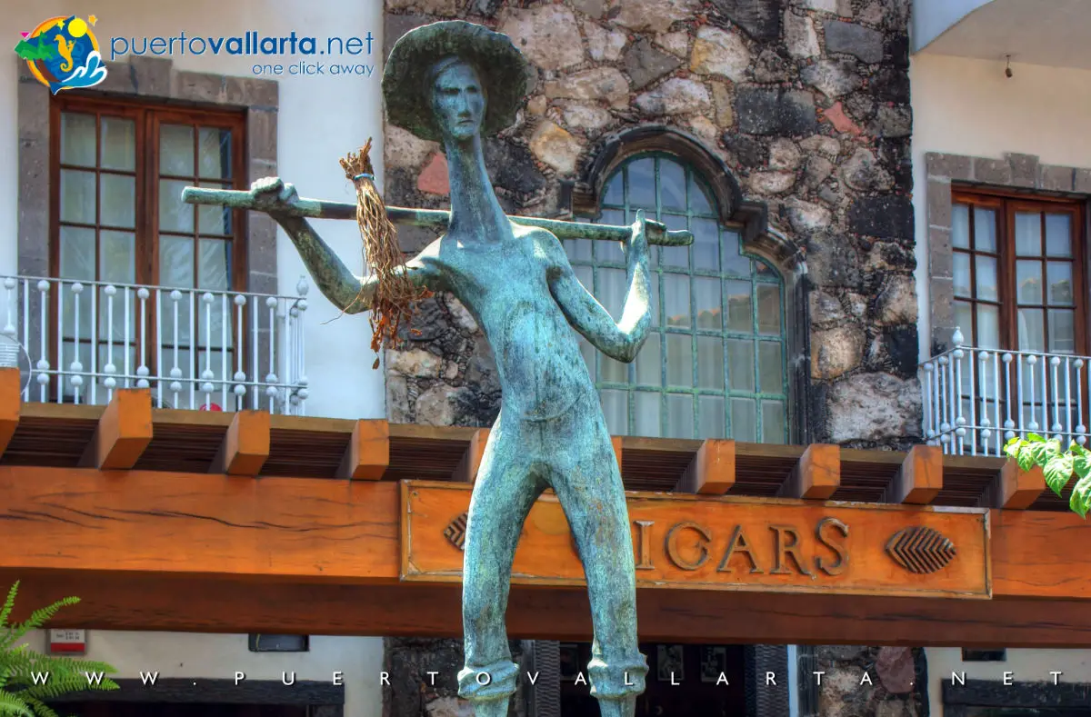
[[[930,715],[944,717],[944,685],[951,683],[951,673],[959,679],[1003,682],[1091,682],[1091,649],[1009,649],[1003,663],[963,663],[962,651],[950,647],[930,647],[924,651],[928,661]],[[1054,677],[1051,671],[1063,675]]]

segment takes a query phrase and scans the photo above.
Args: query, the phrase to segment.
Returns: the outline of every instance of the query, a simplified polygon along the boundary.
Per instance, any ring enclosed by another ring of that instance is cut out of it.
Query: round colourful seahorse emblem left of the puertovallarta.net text
[[[15,53],[55,95],[62,89],[94,87],[106,80],[98,40],[91,32],[96,22],[95,15],[86,21],[75,15],[50,17],[29,33],[22,33]]]

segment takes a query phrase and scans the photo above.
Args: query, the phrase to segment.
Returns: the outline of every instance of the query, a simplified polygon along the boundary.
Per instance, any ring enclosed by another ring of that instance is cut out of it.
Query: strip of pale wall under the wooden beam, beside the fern
[[[35,631],[25,641],[46,652],[46,632]],[[333,684],[341,672],[345,717],[377,717],[382,714],[380,672],[383,641],[380,637],[312,635],[308,653],[252,653],[247,635],[181,632],[87,631],[87,654],[79,656],[108,663],[118,669],[110,676],[141,679],[142,672],[159,678],[233,680],[236,671],[248,680],[317,680]],[[287,678],[285,677],[287,675]]]

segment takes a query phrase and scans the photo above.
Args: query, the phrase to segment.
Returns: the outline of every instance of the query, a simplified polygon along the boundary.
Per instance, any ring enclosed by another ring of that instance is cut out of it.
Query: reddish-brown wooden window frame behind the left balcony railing
[[[247,166],[247,116],[244,110],[217,110],[206,108],[192,108],[187,106],[155,104],[113,97],[92,97],[86,95],[62,94],[51,98],[49,102],[49,276],[60,277],[60,228],[61,228],[61,196],[60,175],[62,169],[69,166],[61,163],[61,113],[75,112],[94,114],[95,122],[95,167],[96,177],[96,221],[94,226],[86,224],[95,230],[95,279],[99,280],[101,267],[99,266],[99,232],[101,231],[101,202],[98,199],[98,177],[104,173],[113,173],[101,168],[101,137],[100,126],[101,116],[131,119],[134,122],[135,147],[134,147],[134,170],[133,172],[118,172],[135,175],[135,221],[134,221],[134,282],[148,287],[161,285],[159,281],[159,202],[158,183],[160,180],[159,169],[159,127],[163,124],[188,124],[192,126],[209,126],[227,129],[231,132],[231,178],[232,189],[245,190],[248,187],[248,166]],[[194,178],[200,175],[197,166],[197,143],[194,139]],[[71,169],[88,171],[87,167],[75,167]],[[173,175],[168,175],[168,179]],[[199,181],[194,180],[200,184]],[[211,181],[211,180],[209,180]],[[227,184],[221,182],[219,185]],[[232,211],[231,222],[231,251],[230,251],[230,277],[229,289],[232,293],[247,291],[248,269],[247,269],[247,212],[242,209]],[[71,223],[71,222],[64,222]],[[200,262],[200,224],[194,219],[193,227],[193,278],[194,284],[199,280]],[[226,240],[225,240],[226,241]],[[195,288],[195,287],[194,287]],[[57,317],[60,312],[60,292],[50,292],[49,312],[50,316]],[[148,300],[148,317],[144,324],[137,318],[133,327],[132,342],[140,345],[144,340],[144,333],[148,333],[146,345],[149,355],[147,363],[155,375],[158,352],[155,351],[159,337],[156,335],[155,312],[159,307],[155,305],[155,293]],[[56,320],[56,319],[53,319]],[[244,319],[245,320],[245,319]],[[238,332],[242,330],[237,326],[235,312],[231,312],[231,333],[232,345],[237,345]],[[98,337],[88,337],[92,345],[101,341]],[[196,338],[191,337],[194,349],[197,347]],[[49,332],[49,361],[52,365],[60,366],[58,337],[55,331]],[[82,343],[83,341],[81,341]],[[52,390],[60,393],[63,387],[58,385]],[[60,394],[59,393],[59,394]]]

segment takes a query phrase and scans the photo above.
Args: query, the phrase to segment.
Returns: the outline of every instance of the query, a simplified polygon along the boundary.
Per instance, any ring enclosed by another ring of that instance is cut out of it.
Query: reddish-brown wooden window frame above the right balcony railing
[[[979,252],[974,246],[975,242],[973,236],[975,232],[973,231],[973,211],[970,211],[970,228],[971,228],[971,247],[969,250],[956,247],[954,245],[954,236],[951,238],[951,252],[952,254],[969,254],[971,256],[970,262],[970,282],[971,291],[976,294],[976,263],[972,260],[972,257],[985,255],[995,256],[997,259],[997,294],[998,301],[988,302],[981,301],[976,297],[964,297],[955,296],[952,301],[970,303],[974,308],[979,303],[987,303],[993,305],[998,305],[999,309],[999,323],[1000,323],[1000,348],[1008,351],[1027,351],[1028,349],[1019,347],[1019,301],[1018,301],[1018,287],[1016,285],[1016,244],[1015,244],[1015,217],[1018,211],[1035,211],[1042,212],[1043,227],[1042,227],[1042,242],[1045,242],[1045,218],[1044,214],[1047,211],[1059,214],[1067,212],[1071,216],[1071,227],[1072,227],[1072,295],[1074,295],[1074,340],[1075,347],[1072,355],[1076,356],[1087,356],[1088,355],[1088,250],[1086,246],[1087,242],[1087,212],[1083,203],[1077,199],[1062,198],[1062,197],[1050,197],[1050,196],[1036,196],[1032,194],[1023,194],[1018,192],[1003,192],[1003,191],[976,191],[970,189],[956,189],[951,192],[951,204],[967,204],[973,207],[984,207],[993,209],[996,211],[997,227],[996,227],[996,254],[988,254]],[[954,231],[954,229],[952,229]],[[1044,250],[1043,250],[1044,252]],[[1026,257],[1024,257],[1026,258]],[[1046,257],[1044,253],[1039,260],[1045,262]],[[1044,276],[1044,275],[1043,275]],[[1046,291],[1047,287],[1043,285],[1043,302],[1046,302]],[[1045,308],[1046,305],[1043,305]],[[978,341],[976,324],[978,324],[978,313],[973,312],[973,326],[970,328],[967,340],[970,343],[975,344]],[[1044,321],[1044,353],[1051,353],[1048,344],[1048,315],[1043,311],[1043,321]]]

